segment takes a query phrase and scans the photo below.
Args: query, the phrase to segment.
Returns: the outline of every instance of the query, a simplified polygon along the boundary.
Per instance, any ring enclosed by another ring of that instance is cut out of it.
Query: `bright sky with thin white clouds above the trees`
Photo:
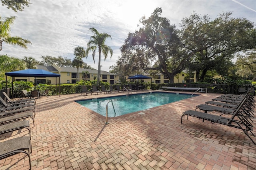
[[[11,36],[28,39],[32,45],[28,49],[2,44],[0,54],[20,59],[41,56],[74,59],[77,46],[87,48],[87,42],[93,35],[89,28],[100,33],[110,34],[112,39],[106,45],[113,49],[106,61],[101,55],[101,70],[109,71],[121,56],[120,47],[130,32],[138,30],[137,25],[143,16],[148,18],[158,7],[162,8],[162,17],[170,24],[178,24],[182,18],[196,12],[201,16],[208,14],[212,20],[223,12],[233,12],[234,18],[246,18],[256,23],[256,0],[31,0],[29,7],[22,12],[14,12],[6,6],[0,6],[1,17],[16,16],[11,28]],[[98,53],[95,63],[92,52],[83,61],[98,69]]]

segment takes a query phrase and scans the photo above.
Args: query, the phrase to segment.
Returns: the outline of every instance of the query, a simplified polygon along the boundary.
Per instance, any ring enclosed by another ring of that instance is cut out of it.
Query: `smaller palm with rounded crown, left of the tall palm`
[[[82,58],[86,57],[85,50],[83,47],[76,47],[74,50],[76,56],[72,61],[72,64],[76,67],[76,81],[79,81],[79,67],[83,67],[84,61]]]

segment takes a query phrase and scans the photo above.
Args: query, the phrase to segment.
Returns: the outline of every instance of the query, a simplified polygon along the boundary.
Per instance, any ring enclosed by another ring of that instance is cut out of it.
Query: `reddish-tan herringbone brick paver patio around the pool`
[[[31,124],[32,170],[252,170],[256,145],[236,128],[184,117],[220,94],[205,94],[106,118],[74,100],[102,95],[61,95],[36,99],[35,127]],[[121,93],[119,93],[121,95]],[[256,127],[254,119],[254,127]],[[256,132],[254,131],[254,134]],[[26,130],[1,135],[1,141],[28,135]],[[256,137],[253,137],[256,141]],[[0,169],[29,168],[28,157],[17,154],[0,160]]]

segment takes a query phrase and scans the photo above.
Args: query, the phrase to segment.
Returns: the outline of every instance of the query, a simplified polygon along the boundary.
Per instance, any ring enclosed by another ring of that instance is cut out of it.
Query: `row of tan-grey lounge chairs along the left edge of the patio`
[[[36,101],[35,99],[12,100],[5,92],[3,92],[3,95],[6,101],[0,97],[0,134],[26,129],[29,136],[12,136],[12,139],[0,141],[0,159],[24,153],[28,156],[31,169],[30,154],[32,153],[32,143],[30,121],[24,119],[31,118],[34,124]]]

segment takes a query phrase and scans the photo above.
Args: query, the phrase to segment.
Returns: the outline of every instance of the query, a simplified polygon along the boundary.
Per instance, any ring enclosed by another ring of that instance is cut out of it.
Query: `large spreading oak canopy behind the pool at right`
[[[221,73],[236,53],[256,44],[253,23],[232,18],[231,14],[220,14],[215,20],[191,14],[177,30],[161,16],[162,9],[156,8],[149,18],[142,17],[139,30],[128,34],[121,47],[122,56],[112,68],[125,69],[124,73],[155,70],[169,77],[170,83],[189,66],[197,71],[198,79],[203,79],[208,70]]]

